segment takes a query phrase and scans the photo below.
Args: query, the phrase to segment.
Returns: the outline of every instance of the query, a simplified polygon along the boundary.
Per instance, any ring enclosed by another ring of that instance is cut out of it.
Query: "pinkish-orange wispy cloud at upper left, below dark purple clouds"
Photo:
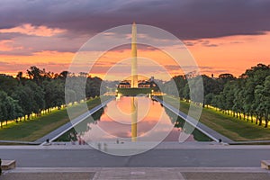
[[[50,37],[54,36],[59,33],[63,33],[66,30],[58,29],[58,28],[49,28],[46,26],[33,26],[30,23],[25,23],[21,26],[17,26],[14,28],[10,29],[1,29],[0,32],[6,33],[6,32],[18,32],[22,34],[27,34],[27,35],[35,35],[35,36],[45,36],[45,37]]]

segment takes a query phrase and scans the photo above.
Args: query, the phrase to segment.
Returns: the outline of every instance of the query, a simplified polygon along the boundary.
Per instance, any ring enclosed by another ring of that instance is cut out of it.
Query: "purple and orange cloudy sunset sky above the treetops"
[[[56,73],[67,70],[87,40],[135,21],[182,40],[201,74],[239,76],[258,63],[270,64],[269,9],[268,0],[1,0],[0,74],[25,73],[31,66]],[[173,41],[165,41],[175,48]],[[96,44],[95,50],[102,45]],[[104,52],[91,74],[103,76],[130,55],[129,46]],[[171,76],[181,74],[158,49],[139,46],[138,55],[156,61]]]

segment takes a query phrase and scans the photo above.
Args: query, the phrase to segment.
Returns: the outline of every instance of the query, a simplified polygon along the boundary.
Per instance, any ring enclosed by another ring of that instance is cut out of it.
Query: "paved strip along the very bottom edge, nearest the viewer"
[[[4,172],[1,180],[266,180],[261,168],[16,168]]]

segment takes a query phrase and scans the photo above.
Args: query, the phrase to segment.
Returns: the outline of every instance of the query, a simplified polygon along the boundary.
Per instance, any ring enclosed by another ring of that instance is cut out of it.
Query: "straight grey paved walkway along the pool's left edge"
[[[81,114],[80,116],[78,116],[76,119],[67,122],[66,124],[64,124],[63,126],[59,127],[57,130],[53,130],[51,131],[49,134],[47,134],[46,136],[37,139],[36,141],[34,141],[35,144],[43,144],[46,143],[46,140],[49,139],[49,141],[53,141],[55,139],[58,139],[58,137],[60,137],[61,135],[63,135],[65,132],[67,132],[68,130],[71,130],[74,126],[76,126],[76,124],[80,123],[81,121],[84,121],[87,117],[89,117],[90,115],[92,115],[94,112],[97,112],[98,110],[100,110],[101,108],[103,108],[107,103],[111,102],[113,98],[95,106],[93,109],[91,109],[88,112],[85,112],[83,114]]]

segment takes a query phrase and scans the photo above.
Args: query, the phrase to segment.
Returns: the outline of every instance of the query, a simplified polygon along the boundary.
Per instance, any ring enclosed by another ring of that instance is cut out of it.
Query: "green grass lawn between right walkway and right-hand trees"
[[[188,112],[189,103],[179,101],[179,99],[170,96],[167,98],[169,98],[169,101],[166,103],[176,106],[175,104],[180,102],[180,110],[184,113]],[[239,120],[212,109],[202,109],[200,122],[235,141],[270,140],[269,128],[258,126],[250,121]]]

